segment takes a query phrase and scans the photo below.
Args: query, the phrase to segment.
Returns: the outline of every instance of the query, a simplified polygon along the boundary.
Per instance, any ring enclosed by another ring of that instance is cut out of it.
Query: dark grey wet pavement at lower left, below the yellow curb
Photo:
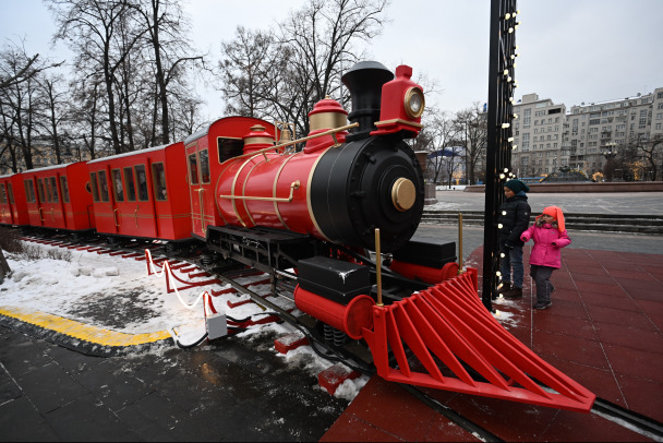
[[[274,338],[101,358],[0,326],[0,441],[316,441],[348,402]]]

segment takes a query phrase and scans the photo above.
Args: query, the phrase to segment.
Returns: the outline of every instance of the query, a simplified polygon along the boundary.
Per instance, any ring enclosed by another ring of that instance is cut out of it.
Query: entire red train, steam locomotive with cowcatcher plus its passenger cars
[[[422,128],[424,95],[411,74],[355,64],[342,76],[352,111],[318,101],[300,140],[229,117],[168,146],[2,177],[0,222],[29,214],[35,227],[204,241],[215,266],[294,282],[297,307],[335,343],[339,333],[363,340],[386,380],[588,411],[592,393],[485,310],[477,271],[458,268],[455,243],[412,239],[424,187],[406,140]]]

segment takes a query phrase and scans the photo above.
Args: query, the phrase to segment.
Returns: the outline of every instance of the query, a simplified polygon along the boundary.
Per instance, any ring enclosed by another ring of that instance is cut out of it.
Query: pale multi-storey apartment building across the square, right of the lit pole
[[[569,167],[589,177],[603,171],[604,152],[663,137],[663,87],[653,93],[571,106],[527,94],[514,106],[511,166],[518,177],[541,176]]]

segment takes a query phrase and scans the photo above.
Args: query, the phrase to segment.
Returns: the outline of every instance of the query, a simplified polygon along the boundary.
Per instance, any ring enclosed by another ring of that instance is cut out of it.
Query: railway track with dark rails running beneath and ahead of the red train
[[[358,352],[358,347],[352,346],[334,346],[324,338],[324,333],[315,324],[315,320],[303,314],[300,316],[293,315],[291,310],[284,309],[278,304],[269,301],[266,297],[253,291],[249,285],[239,283],[238,280],[246,276],[248,272],[253,270],[241,270],[241,268],[218,268],[214,263],[205,263],[203,259],[205,253],[202,251],[186,252],[186,251],[173,251],[167,248],[165,244],[144,242],[144,243],[109,243],[99,238],[86,238],[86,239],[70,239],[69,236],[56,235],[50,238],[40,237],[24,237],[25,240],[37,241],[45,244],[58,246],[67,249],[88,250],[88,251],[103,251],[99,253],[106,253],[110,256],[118,258],[137,258],[137,255],[144,255],[141,253],[146,248],[152,251],[152,254],[156,258],[157,262],[164,260],[179,261],[191,264],[192,266],[198,266],[205,270],[210,278],[218,279],[222,284],[230,285],[239,295],[249,296],[253,302],[260,306],[265,315],[273,315],[279,318],[281,321],[289,323],[294,328],[304,334],[310,343],[312,349],[321,358],[324,358],[330,362],[342,362],[354,371],[373,375],[375,373],[375,367],[372,364],[370,354]],[[270,279],[274,288],[274,295],[278,297],[285,297],[293,302],[292,288],[296,280],[294,274],[287,272],[276,272]],[[241,322],[251,322],[250,319],[243,319]],[[256,324],[258,322],[254,322]],[[229,327],[231,331],[241,331],[241,326]],[[448,420],[453,421],[467,432],[472,433],[474,436],[485,442],[502,442],[504,441],[498,435],[494,434],[490,430],[485,429],[481,424],[471,419],[463,417],[458,411],[449,408],[442,404],[436,398],[426,394],[422,390],[400,384],[400,386],[414,396],[431,409],[437,414],[444,416]],[[596,398],[591,409],[591,414],[598,415],[606,420],[610,420],[618,426],[627,428],[634,432],[637,432],[643,436],[647,436],[653,441],[663,442],[663,423],[638,412],[623,408],[619,405],[613,404],[602,398]]]

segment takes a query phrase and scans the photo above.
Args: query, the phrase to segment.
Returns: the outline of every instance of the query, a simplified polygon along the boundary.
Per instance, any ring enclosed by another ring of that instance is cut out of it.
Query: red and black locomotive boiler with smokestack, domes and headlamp
[[[352,96],[352,132],[348,112],[325,98],[309,113],[311,132],[300,152],[275,153],[269,134],[254,127],[243,155],[226,161],[216,185],[224,220],[371,250],[379,228],[385,252],[402,248],[423,211],[421,167],[403,141],[417,135],[423,111],[423,93],[411,73],[400,67],[394,79],[379,63],[355,65],[342,77]],[[388,96],[402,89],[406,101],[381,112],[383,85]],[[411,117],[398,115],[397,107]],[[383,124],[388,128],[376,128]]]

